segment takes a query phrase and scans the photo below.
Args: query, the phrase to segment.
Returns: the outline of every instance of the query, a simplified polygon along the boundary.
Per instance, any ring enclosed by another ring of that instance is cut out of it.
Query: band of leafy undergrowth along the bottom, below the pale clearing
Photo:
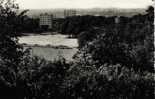
[[[5,99],[153,99],[154,96],[153,73],[136,72],[119,64],[92,69],[63,59],[48,62],[29,57],[22,67],[15,86],[1,85],[9,90],[6,92],[9,97],[3,92]]]

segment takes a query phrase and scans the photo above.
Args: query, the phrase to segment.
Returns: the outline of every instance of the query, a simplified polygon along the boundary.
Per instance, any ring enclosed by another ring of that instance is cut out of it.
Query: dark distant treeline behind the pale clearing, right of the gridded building
[[[101,26],[109,26],[109,28],[113,28],[116,23],[121,24],[122,26],[128,25],[131,21],[139,21],[140,23],[144,23],[146,15],[135,15],[133,17],[124,17],[124,16],[71,16],[65,18],[65,21],[61,24],[61,33],[63,34],[71,34],[77,37],[81,32],[88,31],[89,28],[92,27],[101,27]],[[138,22],[138,23],[139,23]],[[135,27],[136,28],[136,27]],[[123,29],[123,27],[122,27]],[[121,30],[120,30],[121,31]]]

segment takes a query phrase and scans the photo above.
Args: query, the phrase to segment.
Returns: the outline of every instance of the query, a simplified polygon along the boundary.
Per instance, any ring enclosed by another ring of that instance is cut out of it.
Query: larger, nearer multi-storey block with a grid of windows
[[[41,28],[43,29],[52,29],[53,26],[53,15],[51,14],[40,14],[39,17],[40,21],[39,21],[39,25]]]

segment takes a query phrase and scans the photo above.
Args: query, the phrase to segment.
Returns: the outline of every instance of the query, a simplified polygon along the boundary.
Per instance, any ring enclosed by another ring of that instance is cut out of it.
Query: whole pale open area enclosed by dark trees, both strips
[[[32,55],[47,60],[55,60],[60,56],[63,56],[66,60],[72,60],[72,56],[78,51],[77,39],[70,39],[67,35],[61,34],[30,34],[19,37],[19,43],[25,44],[25,48],[31,48]]]

